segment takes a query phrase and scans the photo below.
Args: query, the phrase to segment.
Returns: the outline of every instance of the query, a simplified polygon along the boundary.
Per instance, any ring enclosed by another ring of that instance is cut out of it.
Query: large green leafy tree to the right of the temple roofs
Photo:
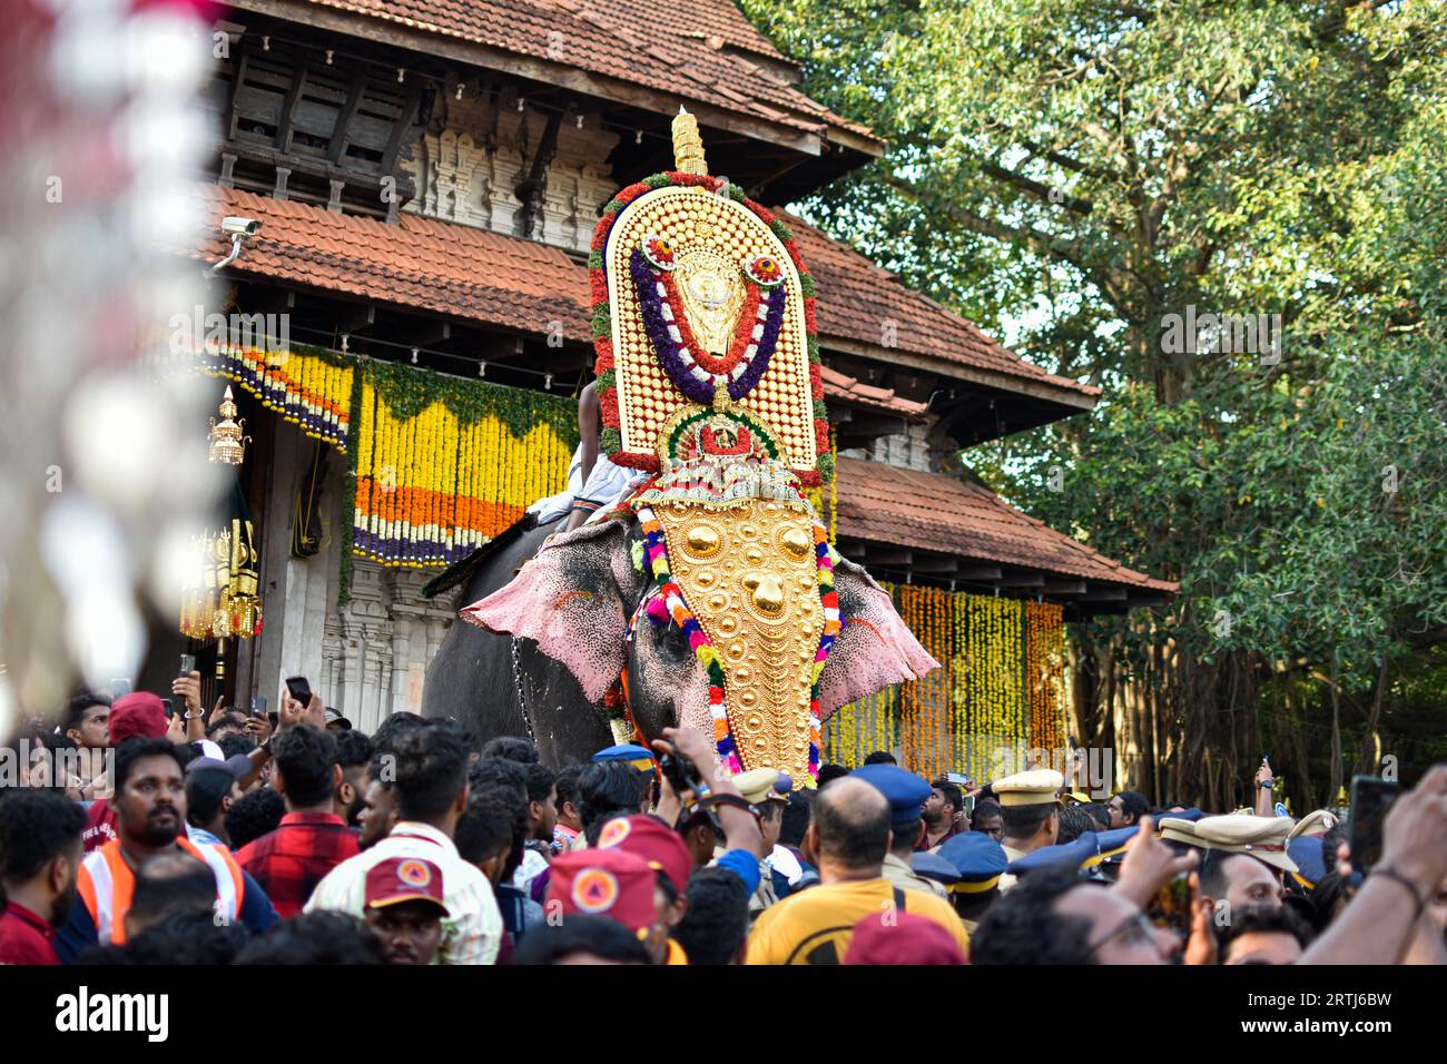
[[[1298,806],[1447,753],[1447,4],[742,6],[890,142],[802,207],[1106,388],[967,455],[1181,582],[1077,633],[1082,732],[1218,808],[1263,748]]]

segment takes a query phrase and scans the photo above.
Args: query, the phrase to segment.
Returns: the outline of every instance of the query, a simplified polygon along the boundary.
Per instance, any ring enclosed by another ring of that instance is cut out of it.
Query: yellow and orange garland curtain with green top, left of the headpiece
[[[185,358],[347,455],[352,552],[382,565],[450,565],[567,486],[572,398],[321,347],[207,343]],[[346,559],[341,582],[346,601]]]

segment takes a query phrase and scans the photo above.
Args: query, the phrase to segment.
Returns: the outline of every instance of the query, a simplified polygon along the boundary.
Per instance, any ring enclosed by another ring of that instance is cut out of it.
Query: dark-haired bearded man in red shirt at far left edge
[[[59,964],[52,942],[75,902],[84,824],[54,790],[0,795],[0,964]]]

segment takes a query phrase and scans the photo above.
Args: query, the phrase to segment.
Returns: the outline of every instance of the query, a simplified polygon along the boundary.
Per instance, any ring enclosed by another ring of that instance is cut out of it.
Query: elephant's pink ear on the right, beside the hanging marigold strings
[[[917,680],[939,667],[862,566],[839,557],[833,566],[833,586],[839,592],[844,631],[819,676],[823,718],[890,683]]]

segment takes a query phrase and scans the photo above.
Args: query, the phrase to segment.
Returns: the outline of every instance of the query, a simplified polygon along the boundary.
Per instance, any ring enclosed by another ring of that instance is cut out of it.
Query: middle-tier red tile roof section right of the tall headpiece
[[[778,208],[774,213],[786,219],[818,282],[819,337],[826,346],[826,337],[835,336],[883,347],[886,324],[893,321],[893,346],[901,350],[1051,384],[1085,397],[1100,395],[1100,388],[1026,362],[978,326],[906,288],[893,274],[802,219]]]

